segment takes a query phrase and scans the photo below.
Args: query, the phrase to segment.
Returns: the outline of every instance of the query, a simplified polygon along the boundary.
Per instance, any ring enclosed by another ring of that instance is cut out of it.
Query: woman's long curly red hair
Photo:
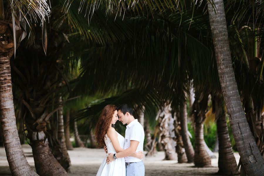
[[[99,148],[104,147],[105,145],[104,138],[116,110],[117,107],[115,105],[109,104],[106,105],[101,112],[101,115],[95,127],[95,140],[98,143]]]

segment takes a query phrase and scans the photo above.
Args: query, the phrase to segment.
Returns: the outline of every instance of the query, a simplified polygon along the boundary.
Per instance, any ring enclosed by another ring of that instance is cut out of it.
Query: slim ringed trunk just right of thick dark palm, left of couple
[[[59,98],[59,103],[61,102],[62,102],[62,97]],[[58,109],[58,140],[62,152],[62,158],[60,159],[59,163],[67,172],[70,172],[71,160],[67,152],[67,147],[65,142],[62,106],[60,106],[60,108]]]

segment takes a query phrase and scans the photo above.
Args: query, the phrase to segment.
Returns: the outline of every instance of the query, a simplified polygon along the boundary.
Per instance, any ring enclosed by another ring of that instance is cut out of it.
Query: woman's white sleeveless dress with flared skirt
[[[114,146],[111,143],[111,140],[108,138],[107,134],[105,136],[106,138],[104,138],[104,142],[107,147],[107,153],[116,153],[116,150],[114,149]],[[125,143],[125,138],[121,134],[117,133],[117,139],[118,139],[120,147],[123,148],[124,143]],[[107,156],[108,154],[106,154],[106,157]],[[107,164],[106,157],[104,158],[101,166],[99,167],[99,170],[96,176],[117,176],[117,175],[126,176],[125,158],[117,158],[111,163]]]

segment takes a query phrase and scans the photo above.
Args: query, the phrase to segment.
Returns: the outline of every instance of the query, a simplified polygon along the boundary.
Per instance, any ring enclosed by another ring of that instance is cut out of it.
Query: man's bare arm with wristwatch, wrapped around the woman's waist
[[[119,153],[116,153],[116,158],[124,158],[124,157],[132,155],[133,153],[136,152],[138,144],[139,144],[138,141],[132,141],[131,140],[130,141],[130,147],[127,148],[126,150],[123,150]],[[114,153],[108,153],[108,156],[106,159],[107,164],[111,163],[114,160],[113,156],[114,156]]]

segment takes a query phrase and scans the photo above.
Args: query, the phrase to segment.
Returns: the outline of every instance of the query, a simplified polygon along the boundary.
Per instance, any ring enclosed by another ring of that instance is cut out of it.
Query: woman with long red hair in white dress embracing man
[[[109,153],[119,153],[124,150],[125,138],[112,127],[112,124],[114,125],[116,121],[118,121],[117,107],[115,105],[106,105],[95,128],[95,137],[99,147],[106,145],[107,152]],[[143,153],[137,152],[131,156],[142,159]],[[117,158],[107,164],[106,157],[99,167],[96,176],[126,176],[125,158]]]

